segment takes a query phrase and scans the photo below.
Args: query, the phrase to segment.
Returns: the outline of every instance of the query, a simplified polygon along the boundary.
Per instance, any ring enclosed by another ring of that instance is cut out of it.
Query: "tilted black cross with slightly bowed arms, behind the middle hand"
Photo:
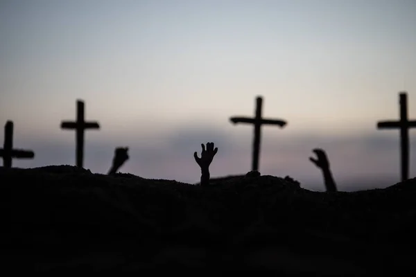
[[[261,118],[261,105],[263,99],[258,96],[256,98],[256,116],[254,118],[247,118],[247,117],[232,117],[229,118],[232,123],[251,123],[254,124],[254,141],[253,141],[253,149],[252,149],[252,170],[259,169],[259,153],[260,153],[260,127],[263,124],[267,125],[278,125],[280,127],[284,127],[286,125],[286,121],[284,120],[274,120],[274,119],[264,119]]]

